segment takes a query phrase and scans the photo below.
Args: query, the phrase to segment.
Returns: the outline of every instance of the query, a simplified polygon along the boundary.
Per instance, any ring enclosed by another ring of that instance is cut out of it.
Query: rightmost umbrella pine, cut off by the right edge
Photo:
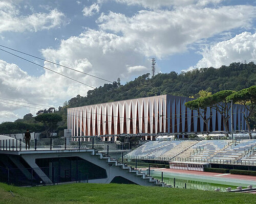
[[[244,119],[246,121],[248,130],[251,131],[249,118],[252,114],[254,114],[256,108],[256,86],[251,86],[247,89],[242,89],[241,91],[235,92],[227,96],[226,100],[233,100],[233,103],[238,103],[245,106],[247,114],[243,112]],[[249,137],[252,139],[251,133],[249,133]]]

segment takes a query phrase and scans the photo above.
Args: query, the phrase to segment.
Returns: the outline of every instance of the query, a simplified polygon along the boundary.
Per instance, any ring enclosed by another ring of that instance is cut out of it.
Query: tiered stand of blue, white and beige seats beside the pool
[[[256,161],[256,140],[149,141],[126,157]]]

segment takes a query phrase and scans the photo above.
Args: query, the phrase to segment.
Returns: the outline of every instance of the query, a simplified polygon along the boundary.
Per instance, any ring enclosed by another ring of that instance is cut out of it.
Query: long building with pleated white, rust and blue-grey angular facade
[[[185,107],[193,98],[160,95],[68,109],[72,136],[206,131],[197,111]],[[233,105],[233,130],[246,130],[246,108]],[[210,114],[210,108],[204,113]],[[212,110],[209,131],[224,131],[220,113]],[[230,111],[229,111],[230,115]],[[228,121],[231,130],[231,119]]]

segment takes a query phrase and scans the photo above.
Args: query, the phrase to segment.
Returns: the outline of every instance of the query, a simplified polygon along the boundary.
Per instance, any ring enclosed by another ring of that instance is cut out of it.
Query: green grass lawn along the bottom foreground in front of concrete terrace
[[[12,191],[13,195],[11,194]],[[14,187],[0,183],[0,203],[256,203],[255,194],[124,184],[67,184]]]

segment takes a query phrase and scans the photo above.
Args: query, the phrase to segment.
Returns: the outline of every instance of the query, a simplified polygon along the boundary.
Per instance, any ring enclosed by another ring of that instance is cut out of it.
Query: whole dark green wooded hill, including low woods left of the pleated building
[[[229,89],[239,91],[256,85],[256,65],[253,62],[248,64],[232,63],[229,66],[222,66],[219,69],[213,67],[194,69],[180,74],[175,71],[170,73],[159,73],[153,79],[150,74],[143,74],[134,81],[118,86],[104,84],[87,93],[77,93],[74,98],[63,104],[55,111],[61,116],[62,121],[52,126],[51,132],[57,132],[58,137],[63,136],[63,129],[67,129],[67,108],[100,104],[116,100],[147,97],[161,94],[171,94],[177,96],[199,97],[200,90],[216,93]],[[47,112],[46,110],[44,112]],[[251,128],[255,127],[256,114],[252,116]],[[46,137],[46,127],[41,122],[35,120],[31,113],[15,122],[4,122],[0,124],[0,134],[24,133],[29,129],[31,132],[40,132],[41,137]]]

